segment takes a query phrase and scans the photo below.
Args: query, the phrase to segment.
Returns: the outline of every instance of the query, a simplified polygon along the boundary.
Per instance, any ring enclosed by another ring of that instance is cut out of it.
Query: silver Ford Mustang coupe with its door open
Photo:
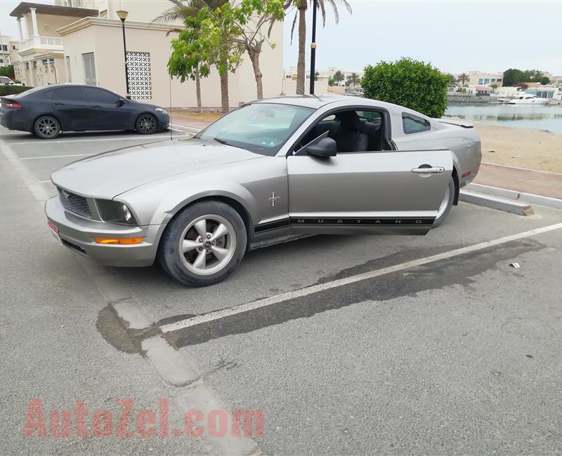
[[[364,98],[275,98],[188,140],[70,163],[45,211],[55,238],[92,260],[157,259],[207,286],[247,250],[298,236],[426,234],[480,162],[467,123]]]

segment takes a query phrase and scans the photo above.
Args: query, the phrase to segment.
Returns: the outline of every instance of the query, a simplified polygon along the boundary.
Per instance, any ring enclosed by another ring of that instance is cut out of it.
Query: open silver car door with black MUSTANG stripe
[[[287,156],[293,233],[426,234],[453,168],[446,149],[306,152]]]

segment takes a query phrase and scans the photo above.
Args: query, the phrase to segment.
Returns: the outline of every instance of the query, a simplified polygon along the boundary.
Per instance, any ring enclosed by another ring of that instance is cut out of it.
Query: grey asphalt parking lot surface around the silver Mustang
[[[461,203],[427,236],[301,239],[202,289],[156,266],[97,267],[51,239],[37,200],[54,193],[52,170],[167,138],[0,130],[0,453],[561,452],[562,211]],[[33,420],[25,436],[34,398],[44,437]],[[261,410],[263,436],[118,436],[119,398],[158,419],[169,401],[170,428],[186,410]],[[50,410],[76,401],[90,436],[75,415],[70,437],[51,436]],[[96,409],[112,435],[93,435]]]

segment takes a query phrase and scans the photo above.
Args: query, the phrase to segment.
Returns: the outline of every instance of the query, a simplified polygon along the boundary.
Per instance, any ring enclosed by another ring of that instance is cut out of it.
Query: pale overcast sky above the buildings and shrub
[[[35,0],[51,3],[53,0]],[[151,1],[151,0],[147,0]],[[8,14],[20,2],[0,0],[0,31],[18,37]],[[349,0],[339,7],[339,24],[327,8],[318,15],[316,67],[360,71],[381,60],[411,57],[444,72],[472,69],[541,69],[562,74],[562,0]],[[294,11],[284,24],[283,67],[296,66],[298,37],[291,43]],[[306,66],[310,65],[311,9],[308,10]]]

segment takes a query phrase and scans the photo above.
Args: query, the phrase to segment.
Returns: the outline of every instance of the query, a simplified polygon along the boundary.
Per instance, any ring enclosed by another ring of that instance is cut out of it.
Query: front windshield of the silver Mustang
[[[256,154],[273,156],[314,109],[254,103],[244,105],[212,123],[195,138],[216,140]]]

